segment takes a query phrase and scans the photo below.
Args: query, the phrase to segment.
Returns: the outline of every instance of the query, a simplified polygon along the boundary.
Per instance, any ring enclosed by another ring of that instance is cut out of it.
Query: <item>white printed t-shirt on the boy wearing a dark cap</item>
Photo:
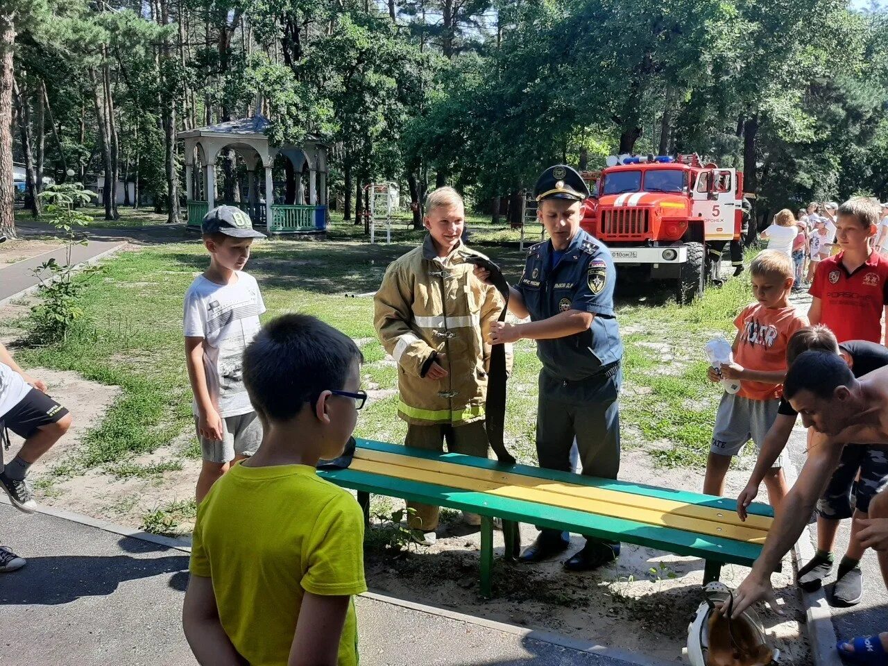
[[[199,275],[186,291],[185,336],[203,338],[207,388],[219,416],[253,411],[243,385],[242,356],[256,337],[259,315],[265,311],[256,278],[243,272],[237,273],[234,284],[217,284]]]

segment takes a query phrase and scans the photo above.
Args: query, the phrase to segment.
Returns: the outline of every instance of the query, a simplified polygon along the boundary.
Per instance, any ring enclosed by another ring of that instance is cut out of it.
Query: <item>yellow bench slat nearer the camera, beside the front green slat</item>
[[[565,496],[539,488],[503,485],[502,483],[493,481],[471,479],[443,472],[432,472],[429,470],[416,469],[415,467],[405,467],[398,464],[380,463],[362,459],[361,457],[355,457],[353,459],[350,469],[358,470],[360,472],[382,474],[395,479],[421,481],[423,483],[431,483],[438,486],[447,486],[448,488],[458,488],[460,490],[487,493],[488,495],[508,497],[510,499],[523,500],[526,502],[559,506],[567,509],[575,509],[577,511],[586,511],[588,513],[610,516],[612,518],[635,520],[636,522],[642,522],[648,525],[674,527],[686,532],[694,532],[702,535],[721,536],[748,543],[765,543],[765,532],[758,529],[725,525],[723,523],[713,523],[708,520],[687,518],[686,516],[674,513],[654,511],[651,509],[627,506],[625,504],[602,502],[600,500],[592,500],[583,497],[576,497],[572,503],[566,505],[564,503]]]

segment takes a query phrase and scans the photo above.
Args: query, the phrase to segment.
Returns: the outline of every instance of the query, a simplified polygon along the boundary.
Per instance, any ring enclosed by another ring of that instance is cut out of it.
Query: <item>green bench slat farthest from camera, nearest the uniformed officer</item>
[[[481,469],[496,470],[497,472],[514,472],[536,479],[573,483],[575,485],[590,486],[593,488],[605,488],[607,490],[616,490],[622,493],[631,493],[633,495],[646,497],[658,497],[660,499],[672,500],[674,502],[708,506],[712,509],[722,509],[730,512],[737,511],[737,501],[728,497],[713,497],[702,495],[701,493],[688,492],[686,490],[670,490],[669,488],[657,488],[656,486],[646,486],[644,484],[630,483],[628,481],[582,476],[580,474],[572,474],[571,472],[543,470],[539,467],[531,467],[526,464],[503,465],[496,462],[496,460],[488,460],[486,458],[475,456],[464,456],[458,453],[434,453],[433,451],[424,451],[419,448],[402,447],[398,444],[390,444],[385,441],[361,439],[356,439],[356,441],[359,448],[369,448],[374,451],[384,451],[385,453],[400,454],[401,456],[440,460],[445,463],[463,464],[468,467],[480,467]],[[757,516],[766,516],[768,518],[773,518],[774,515],[773,509],[769,505],[759,502],[749,504],[747,511]]]

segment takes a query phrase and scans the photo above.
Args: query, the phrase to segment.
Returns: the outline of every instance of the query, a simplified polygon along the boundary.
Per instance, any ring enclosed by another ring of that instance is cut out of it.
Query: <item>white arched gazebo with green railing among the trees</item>
[[[226,123],[178,132],[185,142],[185,183],[188,226],[201,226],[207,211],[216,206],[216,161],[232,149],[247,170],[246,202],[224,202],[245,210],[254,225],[265,225],[269,234],[305,234],[327,228],[327,146],[306,138],[301,146],[269,145],[263,115],[251,115]],[[281,155],[293,165],[296,192],[292,202],[274,201],[274,158]],[[258,191],[256,171],[265,170],[264,195]],[[308,172],[307,186],[303,183]],[[238,187],[240,190],[240,187]]]

